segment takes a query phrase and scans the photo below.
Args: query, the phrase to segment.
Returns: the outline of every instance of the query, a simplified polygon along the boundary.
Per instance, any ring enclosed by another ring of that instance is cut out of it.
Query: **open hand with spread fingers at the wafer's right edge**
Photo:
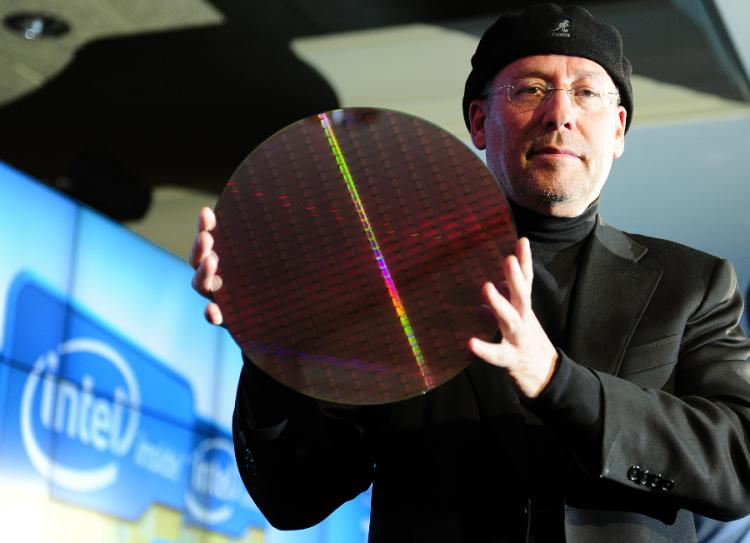
[[[489,343],[471,338],[469,350],[490,364],[506,368],[518,390],[536,398],[552,378],[557,351],[531,309],[534,270],[527,238],[519,239],[516,254],[505,258],[503,272],[507,298],[492,283],[485,283],[482,288],[503,339],[500,343]]]

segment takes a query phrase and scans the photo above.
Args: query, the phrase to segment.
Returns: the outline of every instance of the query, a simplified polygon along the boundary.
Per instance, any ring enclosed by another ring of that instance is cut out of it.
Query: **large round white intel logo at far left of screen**
[[[61,362],[70,364],[65,373],[74,378],[58,377]],[[103,384],[111,399],[94,393]],[[100,490],[117,480],[120,458],[138,431],[139,408],[138,382],[122,355],[99,340],[68,340],[40,356],[26,379],[21,438],[34,468],[53,483]]]

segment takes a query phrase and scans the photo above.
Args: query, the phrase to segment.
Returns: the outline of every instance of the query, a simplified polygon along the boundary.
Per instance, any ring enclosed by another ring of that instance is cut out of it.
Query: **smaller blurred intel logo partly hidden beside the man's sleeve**
[[[232,442],[223,437],[204,439],[193,451],[190,490],[185,496],[190,514],[205,524],[221,524],[246,495]]]

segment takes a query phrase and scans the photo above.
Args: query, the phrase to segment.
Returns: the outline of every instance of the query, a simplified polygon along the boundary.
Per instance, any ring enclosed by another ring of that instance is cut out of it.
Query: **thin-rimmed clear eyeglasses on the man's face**
[[[518,111],[536,109],[552,97],[553,91],[566,92],[574,105],[587,112],[598,111],[613,102],[620,103],[620,94],[617,92],[605,92],[590,86],[581,86],[574,89],[555,88],[541,83],[502,85],[486,92],[485,97],[502,90],[505,91],[508,102]]]

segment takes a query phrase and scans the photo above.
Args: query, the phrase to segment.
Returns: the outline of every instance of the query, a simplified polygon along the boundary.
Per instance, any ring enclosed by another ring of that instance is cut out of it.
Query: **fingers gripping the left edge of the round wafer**
[[[193,247],[190,249],[189,261],[195,270],[193,274],[193,288],[198,294],[207,298],[206,309],[203,314],[211,324],[221,325],[224,317],[221,309],[213,302],[213,293],[221,288],[221,277],[216,275],[219,266],[219,256],[214,252],[214,238],[211,231],[216,227],[216,215],[210,207],[201,208],[198,212],[198,235],[195,236]]]

